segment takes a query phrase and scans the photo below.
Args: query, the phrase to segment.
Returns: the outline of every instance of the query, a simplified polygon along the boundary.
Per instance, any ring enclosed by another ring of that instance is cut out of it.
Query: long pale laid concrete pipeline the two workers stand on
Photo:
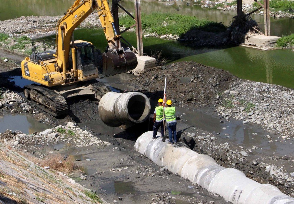
[[[294,198],[270,184],[260,184],[241,171],[225,168],[208,155],[198,154],[186,144],[162,142],[160,133],[153,140],[153,131],[145,132],[135,143],[135,150],[159,166],[188,178],[235,204],[294,204]]]

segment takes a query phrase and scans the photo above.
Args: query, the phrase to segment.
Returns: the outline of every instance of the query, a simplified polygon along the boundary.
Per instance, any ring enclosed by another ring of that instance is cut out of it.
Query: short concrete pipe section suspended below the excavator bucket
[[[106,93],[99,102],[99,116],[111,127],[144,122],[150,113],[150,101],[139,92]]]

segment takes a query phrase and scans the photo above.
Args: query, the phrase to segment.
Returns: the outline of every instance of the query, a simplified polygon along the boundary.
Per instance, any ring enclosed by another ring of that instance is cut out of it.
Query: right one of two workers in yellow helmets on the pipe
[[[166,101],[167,107],[164,107],[164,116],[166,118],[169,143],[177,143],[177,120],[176,120],[176,108],[171,107],[171,100]]]

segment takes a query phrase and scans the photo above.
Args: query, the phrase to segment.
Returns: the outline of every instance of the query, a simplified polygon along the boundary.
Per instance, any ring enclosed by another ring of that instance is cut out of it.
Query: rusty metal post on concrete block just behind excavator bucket
[[[135,19],[136,19],[136,34],[137,34],[137,50],[138,55],[143,56],[143,38],[141,25],[141,5],[140,0],[135,0]]]

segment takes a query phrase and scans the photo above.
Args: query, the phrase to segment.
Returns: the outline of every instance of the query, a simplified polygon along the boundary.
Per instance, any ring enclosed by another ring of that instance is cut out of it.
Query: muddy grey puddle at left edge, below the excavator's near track
[[[0,132],[19,130],[25,134],[33,134],[52,128],[52,125],[39,123],[30,115],[0,115]]]

